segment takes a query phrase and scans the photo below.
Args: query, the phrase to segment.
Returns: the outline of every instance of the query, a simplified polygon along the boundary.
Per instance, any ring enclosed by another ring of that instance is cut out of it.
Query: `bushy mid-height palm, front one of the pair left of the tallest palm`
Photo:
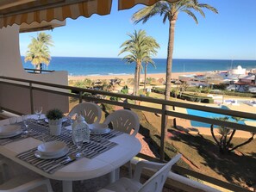
[[[144,30],[139,30],[139,32],[135,30],[134,34],[128,34],[128,36],[130,40],[122,43],[120,46],[122,50],[118,55],[128,52],[129,54],[122,60],[125,60],[128,64],[136,64],[134,72],[134,96],[137,96],[141,65],[144,61],[153,62],[151,56],[157,53],[156,49],[159,48],[159,44],[153,37],[147,36]]]

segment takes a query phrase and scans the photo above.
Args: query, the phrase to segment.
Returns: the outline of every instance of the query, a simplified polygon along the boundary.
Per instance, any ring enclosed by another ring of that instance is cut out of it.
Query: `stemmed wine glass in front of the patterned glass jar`
[[[86,134],[84,133],[83,127],[74,127],[72,129],[72,139],[73,143],[78,147],[78,152],[76,154],[76,158],[81,158],[84,156],[83,152],[81,152],[84,139],[86,139]]]

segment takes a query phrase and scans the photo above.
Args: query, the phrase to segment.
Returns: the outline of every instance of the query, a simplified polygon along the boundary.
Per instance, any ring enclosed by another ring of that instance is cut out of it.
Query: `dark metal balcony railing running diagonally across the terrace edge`
[[[233,127],[234,129],[237,129],[237,130],[242,130],[242,131],[246,131],[246,132],[250,132],[250,133],[256,133],[256,127],[253,127],[253,126],[242,125],[242,124],[238,124],[238,123],[234,123],[234,122],[230,122],[230,121],[220,121],[220,120],[211,119],[208,117],[201,117],[201,116],[197,116],[197,115],[183,114],[183,113],[179,113],[178,111],[175,111],[172,109],[170,110],[167,108],[168,107],[170,107],[170,108],[175,108],[175,107],[191,108],[191,109],[196,109],[196,110],[201,110],[201,111],[206,111],[206,112],[212,112],[215,114],[231,115],[231,116],[256,120],[256,115],[251,114],[251,113],[226,110],[226,109],[222,109],[222,108],[210,108],[210,107],[199,106],[199,105],[183,103],[183,102],[165,101],[162,99],[154,99],[154,98],[145,97],[145,96],[129,96],[129,95],[124,95],[124,94],[120,94],[120,93],[105,92],[105,91],[101,91],[101,90],[82,89],[82,88],[78,88],[78,87],[65,86],[65,85],[59,85],[59,84],[48,84],[48,83],[31,81],[31,80],[14,78],[14,77],[0,77],[0,84],[15,85],[15,86],[19,86],[19,87],[26,87],[27,89],[29,89],[30,90],[31,114],[34,113],[34,111],[33,111],[34,110],[34,102],[33,102],[34,101],[34,99],[33,99],[33,91],[34,90],[41,90],[41,91],[46,91],[46,92],[53,93],[53,94],[59,94],[61,96],[70,96],[70,97],[78,98],[79,102],[82,102],[83,100],[91,101],[91,102],[100,102],[100,103],[104,103],[104,104],[121,106],[123,108],[134,108],[134,109],[139,109],[142,111],[152,112],[154,114],[160,114],[161,115],[160,158],[152,158],[150,156],[147,156],[147,155],[141,154],[141,153],[138,154],[138,157],[146,158],[148,160],[162,162],[165,158],[164,157],[165,156],[165,121],[166,121],[167,116],[178,117],[178,118],[182,118],[182,119],[186,119],[186,120],[190,120],[190,121],[200,121],[200,122],[205,122],[208,124],[215,124],[215,125],[220,125],[220,126],[225,126],[225,127]],[[55,88],[57,90],[53,90],[53,88]],[[111,101],[109,99],[103,99],[103,98],[92,97],[92,96],[84,96],[83,95],[84,93],[91,93],[93,95],[99,95],[99,96],[114,96],[114,97],[118,97],[118,98],[134,100],[134,101],[138,101],[138,102],[150,102],[150,103],[159,104],[161,106],[161,108],[146,107],[146,106],[140,106],[137,104],[131,104],[131,103],[127,103],[127,102],[116,102],[116,101]],[[0,103],[0,108],[1,108],[1,103]],[[3,108],[2,107],[2,109],[10,111],[12,113],[19,114],[18,112],[12,110],[11,108]],[[234,185],[232,183],[226,183],[226,182],[223,182],[216,178],[203,175],[196,171],[185,169],[178,165],[173,166],[173,170],[178,171],[178,173],[180,173],[182,175],[196,177],[203,181],[213,183],[217,186],[221,186],[222,188],[225,188],[225,189],[241,191],[241,192],[248,191],[247,189],[243,189],[240,186]]]

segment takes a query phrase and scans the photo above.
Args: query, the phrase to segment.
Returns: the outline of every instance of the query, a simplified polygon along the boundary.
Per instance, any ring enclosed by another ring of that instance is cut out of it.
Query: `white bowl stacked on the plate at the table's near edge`
[[[62,141],[50,141],[37,146],[37,151],[45,156],[53,156],[63,152],[66,149],[66,143]]]

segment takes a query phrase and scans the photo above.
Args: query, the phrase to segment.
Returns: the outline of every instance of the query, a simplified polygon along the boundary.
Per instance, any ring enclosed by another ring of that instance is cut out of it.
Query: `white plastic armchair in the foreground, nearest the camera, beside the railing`
[[[175,164],[179,158],[181,158],[181,154],[176,155],[167,164],[140,161],[138,164],[136,164],[134,178],[129,179],[126,177],[122,177],[115,183],[111,183],[104,189],[100,189],[98,192],[160,192],[164,187],[166,177],[168,176],[172,165]],[[143,168],[158,171],[153,175],[153,177],[150,177],[146,183],[141,184],[140,175]]]

